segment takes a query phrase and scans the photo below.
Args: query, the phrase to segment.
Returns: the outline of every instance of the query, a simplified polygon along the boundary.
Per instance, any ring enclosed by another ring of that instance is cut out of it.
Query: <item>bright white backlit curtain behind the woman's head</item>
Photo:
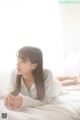
[[[63,39],[57,0],[0,0],[0,69],[13,69],[16,51],[41,48],[44,66],[63,71]]]

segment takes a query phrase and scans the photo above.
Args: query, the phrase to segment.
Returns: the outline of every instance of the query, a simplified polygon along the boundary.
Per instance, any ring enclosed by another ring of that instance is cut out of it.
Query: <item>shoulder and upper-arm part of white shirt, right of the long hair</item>
[[[50,70],[45,70],[45,99],[56,98],[62,93],[62,84]]]

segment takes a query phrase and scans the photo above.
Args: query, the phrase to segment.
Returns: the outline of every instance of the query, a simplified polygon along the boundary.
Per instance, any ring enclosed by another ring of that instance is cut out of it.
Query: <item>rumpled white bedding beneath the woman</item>
[[[8,120],[80,120],[80,90],[64,89],[51,104],[17,110],[6,108],[0,97],[0,113],[7,113]]]

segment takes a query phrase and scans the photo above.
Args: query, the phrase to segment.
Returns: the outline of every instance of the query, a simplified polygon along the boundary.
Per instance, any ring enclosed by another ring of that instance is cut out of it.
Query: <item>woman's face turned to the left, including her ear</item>
[[[25,61],[21,58],[17,59],[17,74],[18,75],[27,75],[33,72],[36,69],[37,65],[32,64],[29,60]]]

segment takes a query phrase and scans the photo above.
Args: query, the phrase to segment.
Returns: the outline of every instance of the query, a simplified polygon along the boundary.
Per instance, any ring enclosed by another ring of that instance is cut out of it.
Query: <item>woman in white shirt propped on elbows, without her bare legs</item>
[[[62,93],[60,82],[43,69],[41,50],[31,46],[19,49],[9,87],[4,103],[10,109],[49,104]]]

